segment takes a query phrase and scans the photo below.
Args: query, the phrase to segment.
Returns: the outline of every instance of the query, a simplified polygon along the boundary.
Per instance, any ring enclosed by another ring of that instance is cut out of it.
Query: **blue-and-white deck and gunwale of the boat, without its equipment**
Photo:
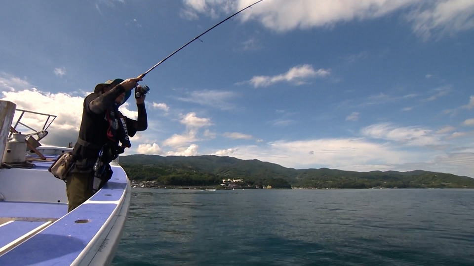
[[[47,171],[52,162],[33,163],[31,169],[1,169],[0,265],[94,265],[109,260],[128,210],[125,171],[112,166],[111,180],[68,213],[65,183]]]

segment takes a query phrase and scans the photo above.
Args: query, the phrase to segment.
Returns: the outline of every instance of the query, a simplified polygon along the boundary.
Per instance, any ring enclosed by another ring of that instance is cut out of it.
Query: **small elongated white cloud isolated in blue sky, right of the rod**
[[[290,82],[296,85],[306,83],[306,80],[312,77],[325,77],[331,72],[329,69],[313,69],[311,65],[300,65],[293,66],[286,73],[279,74],[276,76],[254,76],[248,82],[255,88],[257,87],[268,87],[277,82]]]

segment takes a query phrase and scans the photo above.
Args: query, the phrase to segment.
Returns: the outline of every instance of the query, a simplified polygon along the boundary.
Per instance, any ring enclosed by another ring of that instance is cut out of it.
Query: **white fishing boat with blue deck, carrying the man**
[[[47,116],[46,123],[35,130],[21,121],[27,113]],[[14,116],[19,117],[15,124]],[[130,204],[130,181],[116,159],[112,178],[68,213],[66,183],[48,168],[72,151],[72,143],[40,144],[55,118],[0,100],[0,265],[110,265],[116,253]]]

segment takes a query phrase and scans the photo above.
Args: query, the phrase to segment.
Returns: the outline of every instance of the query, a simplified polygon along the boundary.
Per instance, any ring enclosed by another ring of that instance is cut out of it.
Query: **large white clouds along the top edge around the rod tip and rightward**
[[[186,9],[212,18],[247,6],[248,0],[185,0]],[[423,39],[434,33],[456,33],[474,28],[474,2],[469,0],[273,0],[263,1],[242,13],[242,21],[257,20],[277,32],[328,27],[340,22],[383,17],[396,11],[412,23]]]

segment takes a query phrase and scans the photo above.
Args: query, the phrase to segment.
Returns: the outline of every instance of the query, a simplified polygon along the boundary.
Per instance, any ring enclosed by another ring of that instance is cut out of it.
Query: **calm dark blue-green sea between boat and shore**
[[[474,190],[132,189],[113,265],[474,265]]]

